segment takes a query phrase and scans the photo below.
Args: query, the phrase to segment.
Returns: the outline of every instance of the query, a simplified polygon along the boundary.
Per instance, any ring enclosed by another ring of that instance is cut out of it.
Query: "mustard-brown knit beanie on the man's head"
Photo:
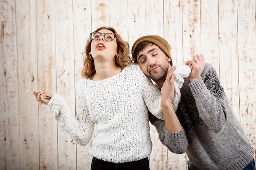
[[[159,47],[159,49],[161,49],[171,59],[171,47],[170,47],[169,43],[166,40],[164,40],[164,38],[162,38],[158,35],[146,35],[146,36],[143,36],[143,37],[139,38],[138,40],[136,40],[132,46],[133,59],[137,60],[137,56],[134,56],[134,51],[135,51],[137,45],[143,41],[150,41],[153,44],[157,45]],[[173,65],[172,60],[170,63],[172,66]]]

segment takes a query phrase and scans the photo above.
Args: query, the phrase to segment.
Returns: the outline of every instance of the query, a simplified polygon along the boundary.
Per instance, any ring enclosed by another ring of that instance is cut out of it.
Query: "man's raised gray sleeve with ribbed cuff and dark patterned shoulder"
[[[226,97],[215,69],[206,64],[198,79],[189,84],[198,113],[204,123],[213,131],[220,132],[228,120]]]

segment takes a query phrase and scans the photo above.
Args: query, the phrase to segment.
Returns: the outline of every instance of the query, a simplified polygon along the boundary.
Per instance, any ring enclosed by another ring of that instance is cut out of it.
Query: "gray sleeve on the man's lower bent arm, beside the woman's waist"
[[[151,113],[149,113],[149,121],[155,126],[160,141],[168,148],[168,150],[177,154],[186,152],[189,142],[183,127],[180,132],[171,132],[165,128],[163,120],[157,119]]]

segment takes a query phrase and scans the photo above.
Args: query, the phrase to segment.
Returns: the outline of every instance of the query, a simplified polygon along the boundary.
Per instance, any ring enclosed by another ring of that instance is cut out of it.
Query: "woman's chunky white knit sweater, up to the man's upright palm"
[[[95,125],[97,133],[89,149],[92,156],[124,163],[150,155],[148,110],[164,120],[161,92],[137,64],[101,81],[81,79],[76,95],[76,117],[58,94],[48,106],[58,124],[82,146],[90,141]]]

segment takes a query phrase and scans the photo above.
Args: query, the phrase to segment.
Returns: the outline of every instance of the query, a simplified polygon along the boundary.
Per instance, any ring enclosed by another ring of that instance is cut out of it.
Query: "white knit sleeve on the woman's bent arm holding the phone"
[[[78,111],[75,116],[68,107],[67,102],[61,95],[54,94],[48,103],[49,110],[54,112],[54,118],[58,124],[67,132],[79,145],[85,146],[89,143],[94,130],[94,123],[90,119],[85,97],[81,90],[77,90]]]

